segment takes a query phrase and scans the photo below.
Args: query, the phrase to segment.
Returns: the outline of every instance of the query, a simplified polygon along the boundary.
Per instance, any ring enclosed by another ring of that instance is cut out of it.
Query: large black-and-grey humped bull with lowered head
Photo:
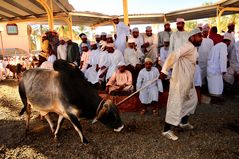
[[[19,115],[27,113],[26,130],[29,129],[31,108],[46,118],[55,137],[63,118],[68,119],[84,144],[88,141],[78,118],[93,119],[92,123],[100,121],[117,132],[123,129],[115,104],[111,100],[103,100],[78,67],[64,60],[56,60],[53,67],[54,70],[29,69],[19,82],[19,94],[24,105]],[[59,115],[56,130],[49,112]]]

